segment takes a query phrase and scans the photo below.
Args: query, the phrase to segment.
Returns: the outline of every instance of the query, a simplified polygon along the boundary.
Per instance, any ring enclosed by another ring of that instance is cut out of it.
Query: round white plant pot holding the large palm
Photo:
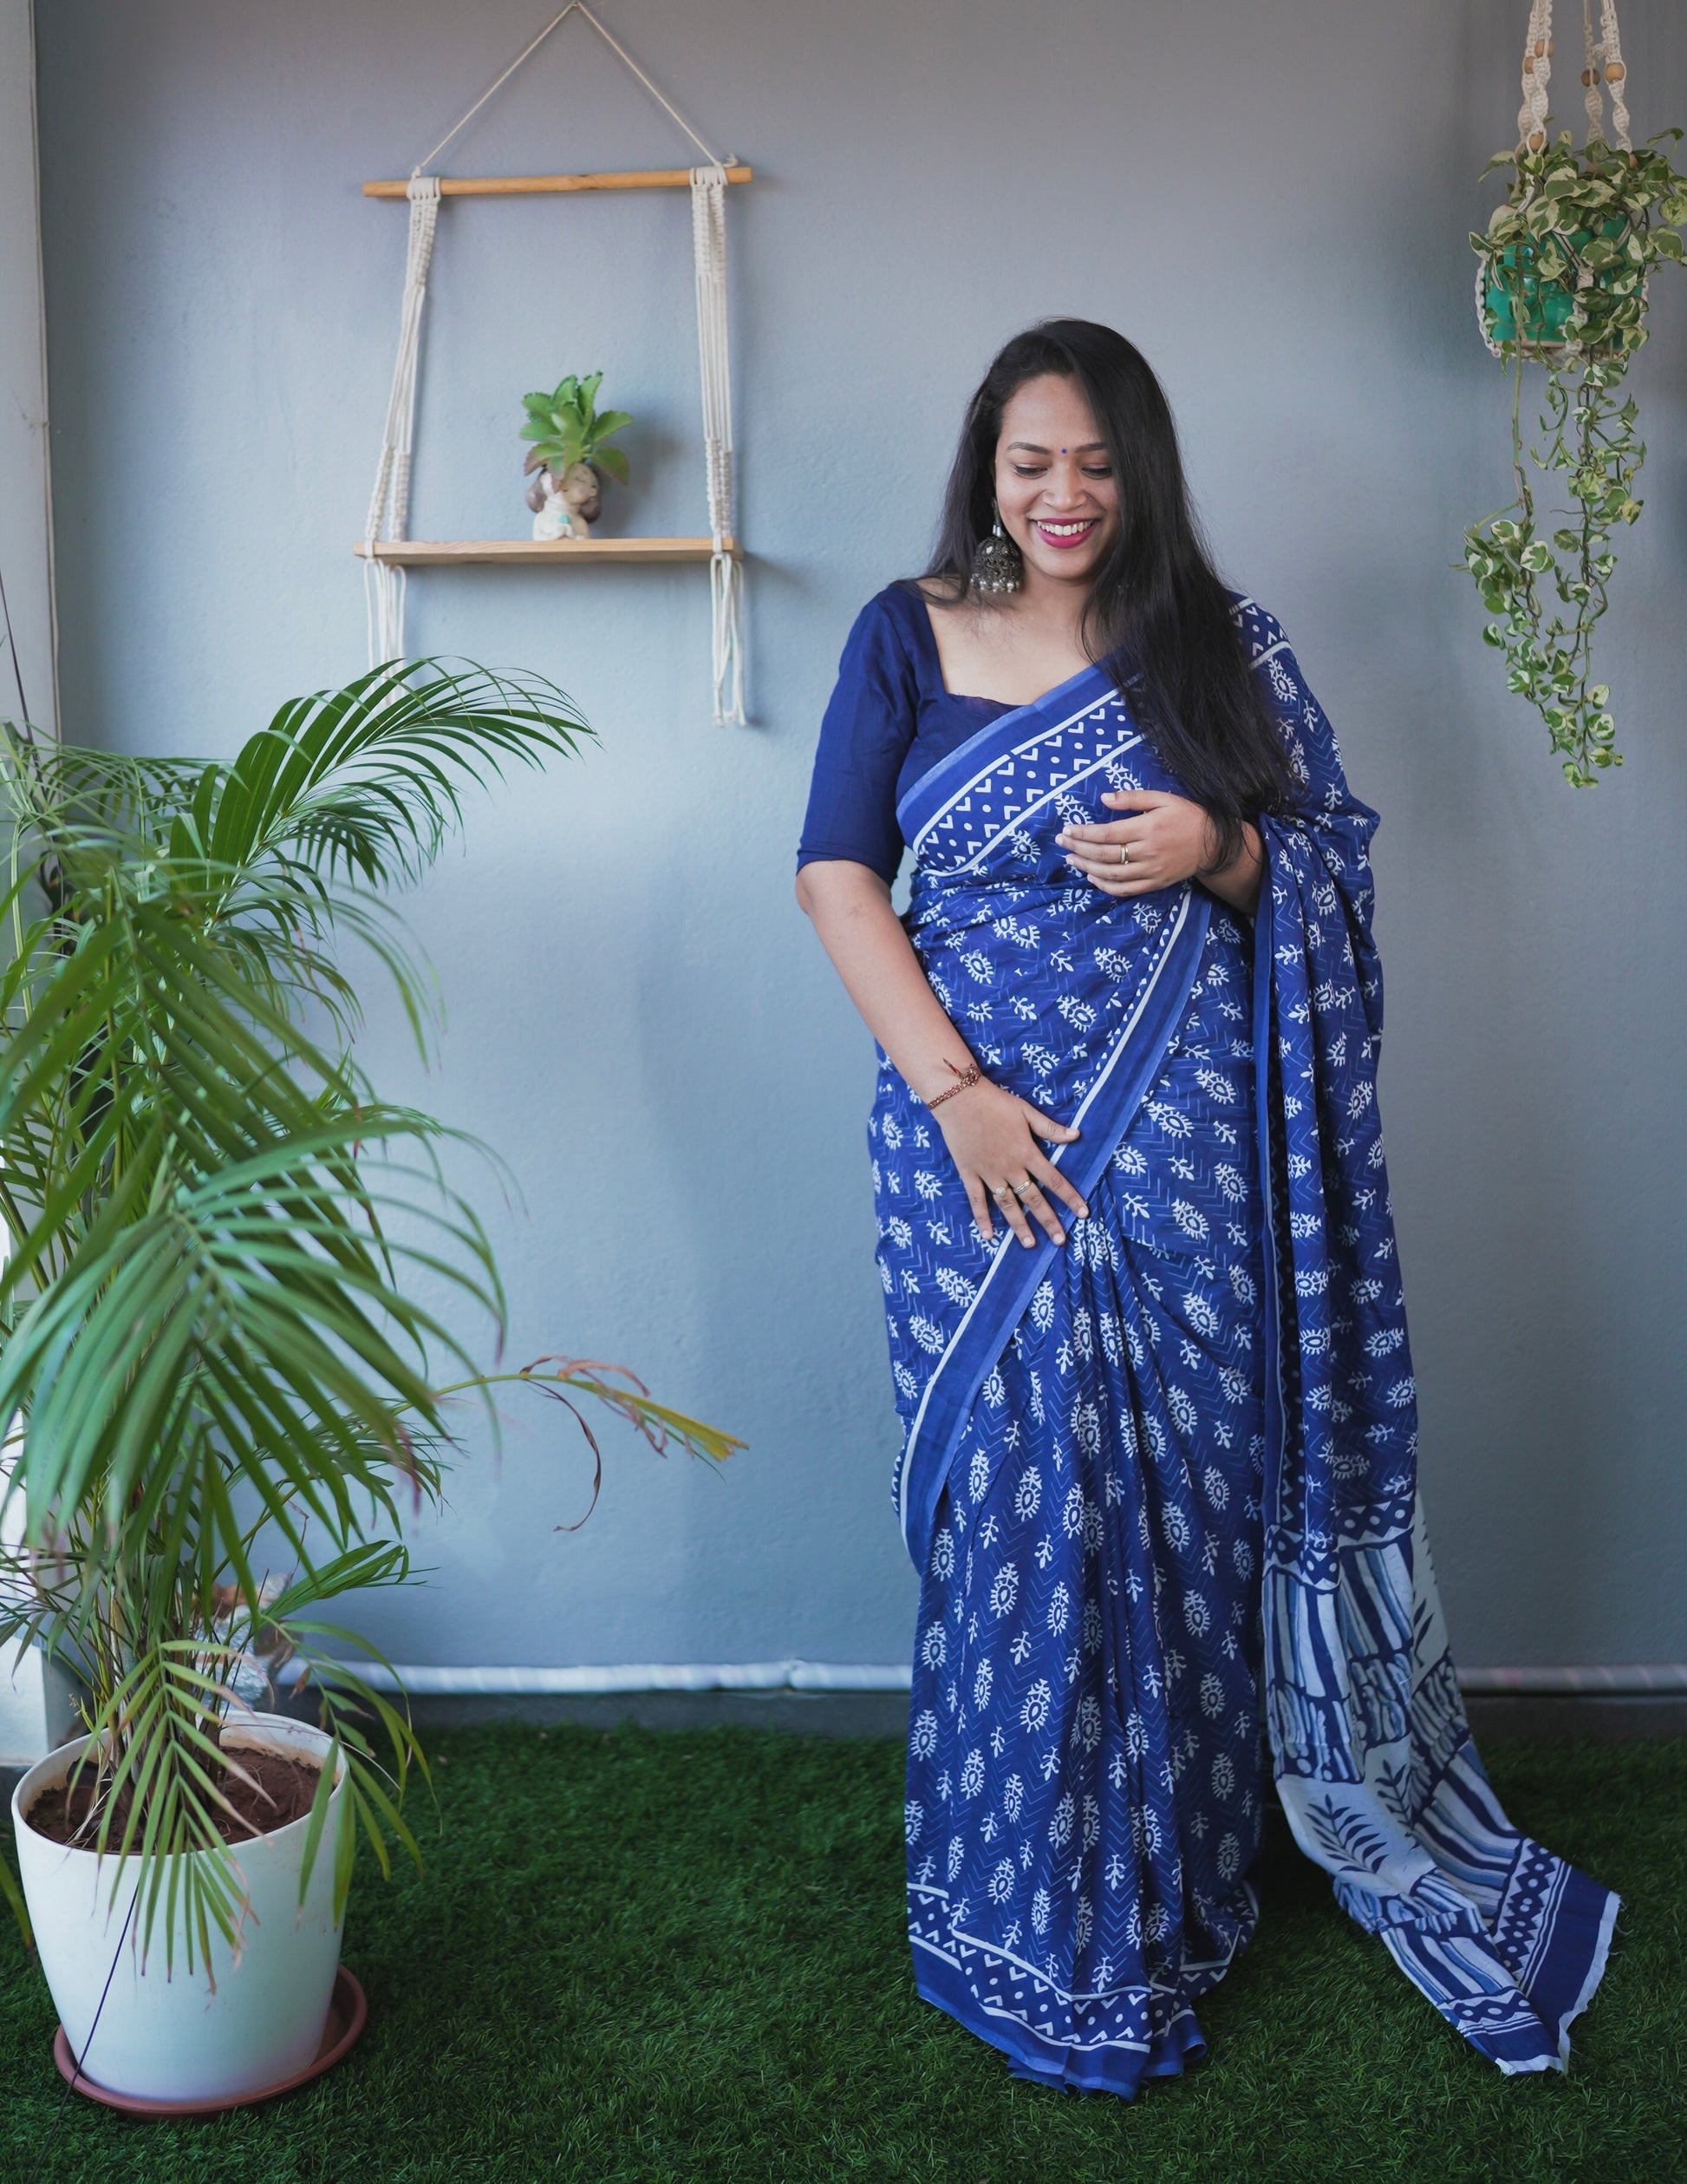
[[[314,1760],[325,1760],[330,1752],[330,1738],[321,1730],[282,1714],[231,1721],[223,1743],[229,1749],[260,1747]],[[144,1963],[137,1933],[124,1937],[137,1859],[100,1861],[92,1850],[68,1850],[28,1826],[24,1815],[31,1804],[65,1780],[81,1752],[79,1738],[31,1767],[13,1791],[11,1824],[41,1970],[72,2053],[83,2057],[83,2073],[109,2092],[137,2099],[216,2101],[258,2092],[306,2070],[323,2040],[340,1963],[334,1826],[345,1797],[345,1765],[334,1784],[303,1909],[299,1867],[308,1819],[236,1845],[236,1867],[251,1909],[238,1961],[229,1944],[212,1933],[212,1990],[199,1948],[194,1970],[188,1972],[179,1911],[175,1972],[166,1974],[166,1896],[159,1896]]]

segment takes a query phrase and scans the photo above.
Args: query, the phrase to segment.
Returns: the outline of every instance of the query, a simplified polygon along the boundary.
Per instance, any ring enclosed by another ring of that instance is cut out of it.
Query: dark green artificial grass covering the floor
[[[914,1994],[901,1749],[777,1730],[430,1738],[428,1874],[360,1874],[362,2044],[271,2108],[72,2097],[65,2184],[1113,2184],[1687,2175],[1687,1743],[1488,1754],[1519,1826],[1617,1887],[1569,2077],[1506,2079],[1351,1926],[1281,1824],[1209,2062],[1126,2105],[1017,2084]],[[412,1817],[423,1817],[417,1806]],[[52,2007],[0,1937],[0,2175],[59,2108]]]

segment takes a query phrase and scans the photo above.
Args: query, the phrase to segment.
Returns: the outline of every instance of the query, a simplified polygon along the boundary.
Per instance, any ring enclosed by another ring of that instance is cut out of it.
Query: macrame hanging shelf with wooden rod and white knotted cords
[[[583,15],[609,50],[633,72],[685,135],[703,153],[694,168],[639,168],[615,175],[491,175],[441,177],[426,168],[458,131],[474,120],[487,100],[500,92],[524,61],[543,46],[550,33],[570,15]],[[731,349],[727,341],[727,183],[749,181],[751,168],[718,159],[683,114],[657,90],[639,63],[591,13],[585,0],[567,0],[511,66],[491,83],[469,111],[445,131],[417,164],[408,181],[367,181],[364,197],[402,197],[410,203],[410,240],[404,264],[404,304],[399,310],[399,349],[393,365],[393,393],[386,404],[375,489],[369,498],[358,553],[364,559],[364,594],[369,609],[369,664],[404,657],[404,583],[406,568],[441,563],[563,563],[563,561],[707,561],[711,594],[714,653],[714,719],[716,725],[744,725],[742,666],[742,572],[740,546],[733,535],[733,437],[731,437]],[[657,537],[591,537],[591,539],[412,539],[410,515],[410,450],[417,415],[417,363],[421,356],[421,312],[428,299],[428,266],[434,253],[434,229],[443,197],[526,197],[565,194],[574,190],[663,190],[692,192],[692,256],[696,266],[696,345],[703,373],[703,465],[709,507],[709,535],[685,539]]]

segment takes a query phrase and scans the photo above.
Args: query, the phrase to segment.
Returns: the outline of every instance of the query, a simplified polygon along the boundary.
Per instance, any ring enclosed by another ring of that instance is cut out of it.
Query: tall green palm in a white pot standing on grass
[[[452,1398],[528,1380],[657,1448],[733,1446],[600,1367],[476,1369],[450,1306],[498,1330],[504,1299],[452,1133],[354,1053],[336,941],[426,1040],[391,889],[467,786],[585,734],[548,684],[432,662],[284,705],[227,767],[0,723],[0,1422],[26,1507],[0,1642],[85,1695],[13,1821],[63,2033],[111,2094],[227,2103],[308,2068],[358,1837],[415,1854],[426,1760],[325,1607],[406,1579]],[[251,1706],[286,1651],[319,1728]]]

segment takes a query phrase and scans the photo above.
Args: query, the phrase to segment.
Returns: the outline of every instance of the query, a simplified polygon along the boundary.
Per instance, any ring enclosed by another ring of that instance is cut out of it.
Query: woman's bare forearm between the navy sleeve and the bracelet
[[[914,1096],[936,1099],[971,1055],[890,909],[886,882],[869,865],[821,860],[797,874],[797,900],[866,1029]]]

